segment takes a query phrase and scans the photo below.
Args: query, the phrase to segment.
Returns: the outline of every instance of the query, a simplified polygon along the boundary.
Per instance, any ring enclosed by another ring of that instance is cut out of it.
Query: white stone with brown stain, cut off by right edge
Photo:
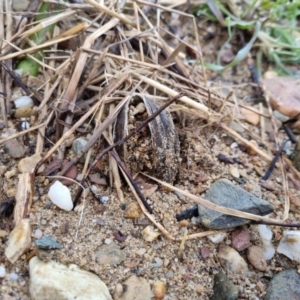
[[[284,231],[277,252],[300,263],[300,231]]]

